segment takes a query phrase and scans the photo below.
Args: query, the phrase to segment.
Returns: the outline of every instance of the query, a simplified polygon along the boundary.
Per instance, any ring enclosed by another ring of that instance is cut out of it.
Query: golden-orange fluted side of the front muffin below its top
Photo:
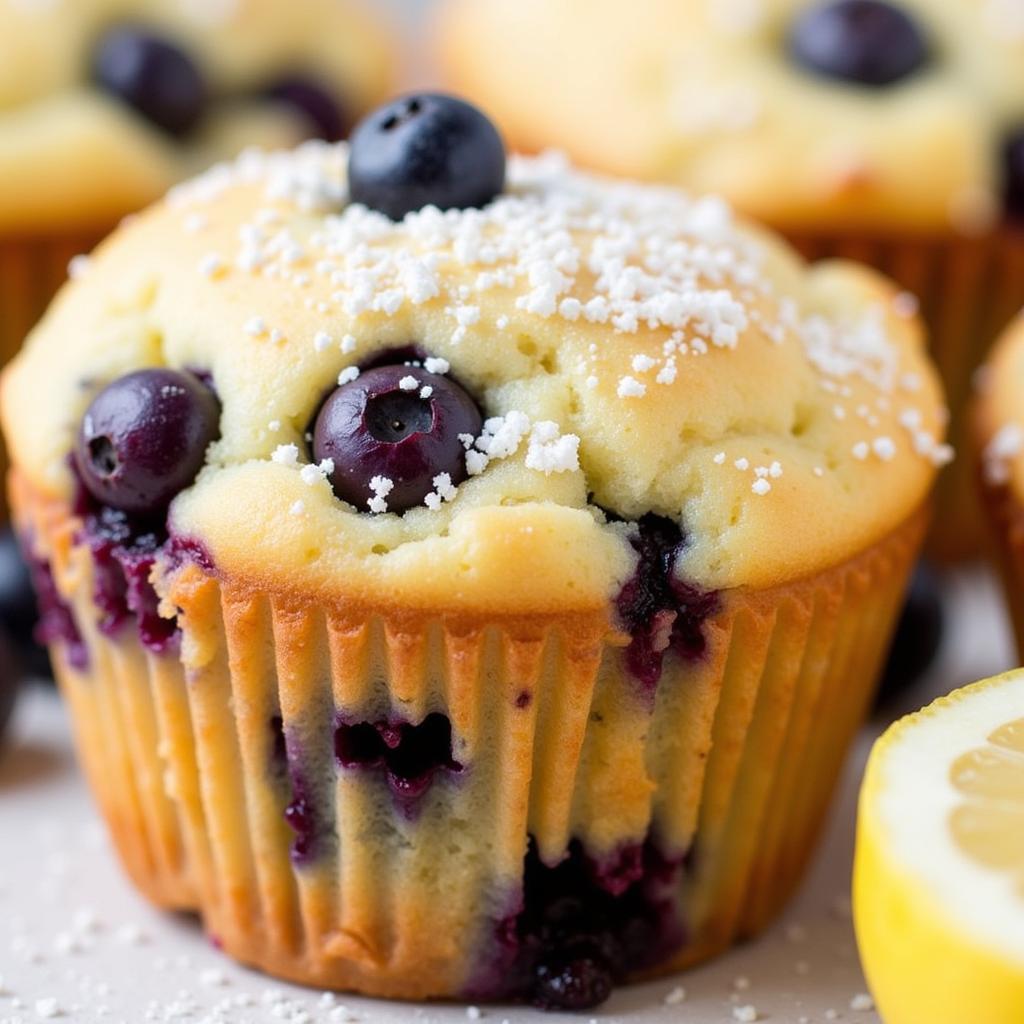
[[[169,595],[180,648],[148,653],[131,627],[98,632],[67,508],[16,475],[12,496],[84,641],[85,657],[55,647],[57,674],[138,887],[270,974],[410,998],[507,994],[488,979],[529,844],[544,864],[582,848],[612,865],[609,892],[616,857],[656,847],[685,940],[653,973],[764,928],[813,850],[926,525],[919,513],[812,578],[723,592],[703,654],[668,659],[652,696],[606,609],[330,605],[196,563]],[[348,725],[431,714],[451,722],[451,760],[415,799],[339,766]]]

